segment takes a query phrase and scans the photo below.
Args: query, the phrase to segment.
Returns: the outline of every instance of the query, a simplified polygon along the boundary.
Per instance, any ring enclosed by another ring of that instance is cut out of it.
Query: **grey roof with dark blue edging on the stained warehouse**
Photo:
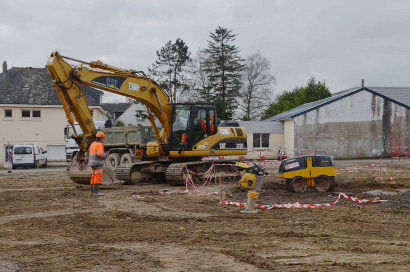
[[[410,109],[410,87],[354,87],[338,93],[334,93],[331,97],[303,104],[291,110],[266,118],[263,121],[282,121],[289,118],[294,118],[360,91],[368,91],[374,95],[380,96],[386,100]]]

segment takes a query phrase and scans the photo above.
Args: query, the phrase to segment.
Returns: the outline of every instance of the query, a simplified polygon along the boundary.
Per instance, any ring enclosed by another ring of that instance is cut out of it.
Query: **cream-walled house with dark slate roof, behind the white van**
[[[0,166],[7,167],[7,149],[14,144],[38,144],[50,165],[65,163],[64,127],[67,118],[46,69],[2,65],[0,74]],[[102,92],[86,88],[93,120],[107,119]]]

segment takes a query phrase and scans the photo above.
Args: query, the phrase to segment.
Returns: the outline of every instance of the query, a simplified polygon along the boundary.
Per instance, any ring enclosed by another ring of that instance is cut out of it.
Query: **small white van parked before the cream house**
[[[35,144],[19,144],[13,146],[13,163],[12,168],[15,169],[19,166],[32,166],[38,168],[47,167],[47,151],[43,151],[42,148]]]

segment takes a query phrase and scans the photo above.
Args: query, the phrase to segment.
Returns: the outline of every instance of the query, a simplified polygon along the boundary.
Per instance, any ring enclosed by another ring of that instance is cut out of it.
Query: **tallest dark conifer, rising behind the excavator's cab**
[[[242,85],[241,72],[244,69],[243,59],[238,55],[238,47],[231,43],[236,35],[218,26],[210,33],[210,41],[203,50],[203,72],[208,77],[212,102],[217,103],[218,116],[221,120],[232,120],[236,109],[235,100]]]

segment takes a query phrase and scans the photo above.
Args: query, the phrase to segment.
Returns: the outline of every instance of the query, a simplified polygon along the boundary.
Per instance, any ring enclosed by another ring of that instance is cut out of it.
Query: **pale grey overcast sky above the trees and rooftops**
[[[361,79],[410,86],[406,0],[0,0],[0,61],[43,68],[57,49],[147,72],[168,41],[182,39],[193,57],[218,26],[237,34],[242,58],[257,50],[269,58],[274,95],[311,76],[331,93]],[[124,102],[110,94],[104,100]]]

